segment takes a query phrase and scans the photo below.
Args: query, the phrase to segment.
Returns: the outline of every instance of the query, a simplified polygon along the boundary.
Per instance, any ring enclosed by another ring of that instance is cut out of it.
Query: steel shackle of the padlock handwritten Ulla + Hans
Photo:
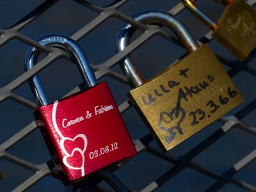
[[[132,19],[142,22],[143,24],[156,24],[159,26],[166,26],[170,28],[175,35],[179,38],[180,42],[184,45],[186,51],[193,52],[200,47],[194,36],[177,17],[168,12],[161,10],[145,10],[137,13],[131,17]],[[118,31],[116,40],[116,52],[120,52],[127,47],[131,42],[131,36],[136,31],[136,28],[129,23],[123,24]],[[127,56],[120,62],[122,69],[125,72],[125,76],[129,79],[133,87],[138,87],[145,83],[140,70],[136,67],[131,56]]]

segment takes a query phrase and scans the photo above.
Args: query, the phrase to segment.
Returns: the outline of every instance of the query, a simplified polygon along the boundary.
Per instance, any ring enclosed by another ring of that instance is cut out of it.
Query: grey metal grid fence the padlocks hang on
[[[127,3],[127,1],[129,0],[117,0],[109,4],[108,6],[100,7],[96,6],[95,4],[90,4],[87,1],[76,0],[77,3],[81,4],[81,6],[84,6],[84,11],[90,9],[93,12],[99,13],[99,15],[95,17],[95,19],[93,19],[91,22],[83,26],[83,28],[79,29],[78,31],[76,31],[76,33],[74,33],[71,36],[71,38],[73,38],[76,41],[79,41],[82,38],[84,38],[84,36],[88,35],[88,33],[93,31],[93,29],[97,28],[97,26],[99,26],[111,17],[115,17],[116,19],[122,20],[124,22],[129,22],[130,24],[132,24],[132,26],[135,26],[141,31],[147,31],[147,33],[143,33],[141,36],[136,38],[136,40],[134,40],[131,45],[126,47],[124,51],[118,52],[118,54],[115,54],[115,56],[113,56],[107,61],[104,61],[104,63],[100,65],[93,65],[92,67],[93,70],[95,70],[95,76],[97,77],[97,79],[100,79],[104,76],[109,76],[115,79],[116,81],[128,84],[127,78],[124,75],[115,72],[113,70],[113,67],[116,64],[118,64],[118,61],[125,58],[125,56],[131,54],[131,52],[135,51],[136,48],[138,48],[141,44],[145,43],[148,39],[152,38],[152,36],[159,35],[166,40],[170,40],[175,44],[180,45],[179,41],[176,38],[170,36],[160,27],[140,24],[132,20],[124,13],[118,11],[118,9],[125,3]],[[22,35],[22,33],[19,32],[21,29],[28,26],[28,24],[30,24],[33,20],[40,17],[40,15],[46,14],[45,12],[47,12],[47,10],[49,10],[49,8],[54,6],[54,4],[56,3],[60,2],[56,0],[44,1],[44,3],[40,4],[40,6],[36,7],[28,15],[20,19],[18,22],[16,22],[16,24],[11,26],[10,28],[0,30],[0,47],[3,47],[5,44],[8,44],[8,42],[15,39],[19,42],[22,42],[22,44],[36,47],[36,49],[47,54],[47,56],[41,61],[39,61],[31,70],[29,70],[28,72],[24,72],[19,77],[14,79],[12,82],[0,88],[1,103],[3,103],[4,100],[13,100],[17,104],[22,104],[23,106],[26,106],[29,109],[35,109],[36,104],[34,102],[22,97],[17,93],[14,93],[14,90],[22,86],[22,84],[26,83],[29,78],[33,77],[35,74],[40,72],[40,70],[50,65],[52,61],[57,60],[58,58],[65,58],[67,60],[70,60],[70,57],[66,52],[61,51],[60,49],[44,47],[40,44],[37,44],[35,40],[28,38],[28,36],[24,36]],[[253,6],[253,4],[256,3],[256,1],[252,0],[248,1],[248,3]],[[169,12],[173,15],[178,15],[180,12],[182,12],[182,10],[184,10],[184,6],[182,3],[179,3],[172,9],[170,9]],[[198,42],[200,42],[200,44],[205,44],[211,42],[211,40],[211,32],[209,32],[205,36],[200,38]],[[250,56],[248,57],[248,59],[246,59],[246,61],[244,62],[230,61],[227,58],[223,58],[221,56],[218,56],[218,58],[220,59],[221,63],[230,67],[230,69],[228,70],[228,74],[230,75],[230,77],[234,77],[240,72],[246,72],[248,74],[256,76],[256,71],[252,68],[252,66],[248,65],[250,61],[255,60],[255,56],[256,50],[254,49]],[[74,90],[72,90],[70,93],[77,92],[78,90],[79,86],[74,88]],[[121,113],[123,113],[124,111],[132,108],[132,106],[129,103],[129,101],[126,100],[125,102],[120,104],[118,108],[120,109]],[[213,132],[203,141],[200,141],[200,143],[196,144],[196,146],[194,146],[191,150],[189,150],[188,152],[184,153],[182,156],[179,157],[172,156],[168,153],[164,154],[158,148],[152,147],[152,145],[150,145],[150,142],[154,139],[149,133],[143,136],[143,138],[140,138],[140,140],[134,140],[136,149],[139,152],[138,156],[140,156],[143,152],[147,151],[148,153],[153,154],[154,156],[157,156],[170,164],[173,164],[172,168],[162,173],[156,180],[145,184],[145,188],[136,190],[154,191],[156,189],[159,189],[161,186],[166,184],[168,180],[171,180],[175,175],[182,172],[182,170],[186,168],[191,168],[196,172],[202,173],[203,175],[205,175],[205,177],[211,177],[212,179],[214,179],[214,182],[211,185],[209,185],[206,189],[204,189],[205,191],[217,191],[218,189],[222,188],[227,184],[234,184],[238,188],[243,188],[248,191],[256,191],[256,186],[253,186],[253,184],[250,184],[249,182],[244,182],[243,180],[239,180],[233,177],[234,175],[236,175],[236,173],[242,170],[250,162],[255,160],[256,148],[254,148],[254,150],[252,150],[252,152],[250,152],[249,154],[246,154],[242,159],[237,161],[233,166],[231,166],[227,170],[223,170],[223,172],[221,173],[216,173],[214,172],[214,170],[206,168],[202,164],[198,164],[193,161],[193,159],[196,156],[198,156],[198,154],[204,152],[204,150],[210,147],[212,143],[218,141],[221,137],[225,136],[225,134],[227,134],[227,132],[230,132],[232,129],[241,129],[245,132],[248,132],[249,134],[252,134],[253,136],[256,136],[255,127],[245,125],[241,122],[241,118],[250,115],[250,113],[252,113],[252,111],[255,108],[256,99],[253,99],[252,101],[250,101],[250,103],[244,106],[244,108],[239,109],[239,111],[237,111],[234,115],[221,117],[219,120],[222,124],[220,129]],[[1,127],[1,129],[3,130],[4,127]],[[58,173],[56,173],[56,171],[54,170],[54,165],[52,164],[51,160],[44,164],[33,164],[27,161],[26,159],[22,159],[8,152],[8,150],[12,148],[14,145],[19,145],[18,143],[20,140],[26,140],[26,137],[36,129],[38,129],[38,127],[36,125],[36,122],[33,121],[30,124],[26,125],[23,129],[20,129],[19,132],[14,134],[11,138],[4,141],[0,145],[0,158],[2,159],[1,161],[3,161],[3,159],[6,159],[7,161],[10,161],[10,163],[17,164],[18,166],[21,166],[22,168],[25,168],[33,172],[33,175],[31,177],[24,179],[22,183],[19,184],[19,186],[13,189],[13,191],[24,191],[33,186],[34,184],[37,184],[36,182],[43,179],[44,177],[54,177],[56,179],[59,178]],[[131,161],[134,160],[131,159]],[[115,172],[116,170],[122,169],[122,166],[123,165],[120,165],[111,168],[110,170],[107,170],[105,172],[99,173],[98,175],[95,175],[94,177],[91,177],[90,179],[84,182],[78,183],[76,186],[68,186],[67,191],[76,191],[79,189],[82,189],[84,191],[93,191],[96,189],[98,191],[108,191],[109,189],[104,189],[102,186],[98,185],[102,180],[106,181],[109,184],[109,186],[111,186],[111,188],[113,188],[115,191],[128,191],[129,186],[125,186],[125,184],[122,183],[118,179],[118,177],[116,177],[113,174],[113,172]],[[3,180],[1,180],[0,182],[7,181],[4,180],[3,178]],[[9,180],[8,182],[12,182],[12,180]],[[49,188],[51,188],[51,186],[49,186]],[[170,189],[172,188],[170,187]]]

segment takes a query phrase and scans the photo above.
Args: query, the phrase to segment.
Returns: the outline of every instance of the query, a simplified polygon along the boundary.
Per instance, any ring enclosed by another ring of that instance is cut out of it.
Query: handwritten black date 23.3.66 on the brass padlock
[[[228,87],[228,95],[230,98],[232,97],[236,97],[237,92],[236,91],[231,91],[231,88]],[[228,103],[229,99],[228,97],[223,97],[222,95],[220,95],[219,97],[219,101],[220,104],[225,105]],[[211,108],[211,113],[215,113],[218,108],[220,108],[219,105],[215,104],[213,100],[209,100],[209,102],[207,102],[206,106],[209,106],[209,108]],[[199,121],[204,120],[205,118],[205,111],[202,111],[202,109],[196,109],[195,111],[191,111],[189,113],[189,116],[193,116],[193,122],[191,123],[191,126],[194,126],[196,124],[199,124]],[[208,117],[210,117],[211,115],[208,115]],[[198,120],[197,120],[198,118]]]

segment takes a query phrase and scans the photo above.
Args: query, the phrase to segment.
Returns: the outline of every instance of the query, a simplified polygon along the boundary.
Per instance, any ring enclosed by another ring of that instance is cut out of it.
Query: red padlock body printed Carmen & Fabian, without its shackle
[[[42,106],[35,115],[67,182],[137,154],[106,82]]]

